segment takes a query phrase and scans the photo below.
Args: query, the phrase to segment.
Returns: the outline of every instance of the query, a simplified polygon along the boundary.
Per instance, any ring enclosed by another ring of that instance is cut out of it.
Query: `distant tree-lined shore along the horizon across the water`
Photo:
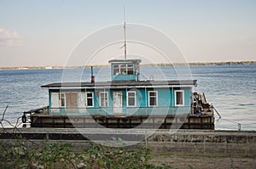
[[[147,66],[200,66],[200,65],[256,65],[256,61],[229,61],[229,62],[192,62],[192,63],[174,63],[174,64],[145,64]],[[93,65],[94,68],[108,68],[109,65]],[[20,66],[20,67],[0,67],[0,70],[56,70],[56,69],[75,69],[90,68],[90,65],[79,66]]]

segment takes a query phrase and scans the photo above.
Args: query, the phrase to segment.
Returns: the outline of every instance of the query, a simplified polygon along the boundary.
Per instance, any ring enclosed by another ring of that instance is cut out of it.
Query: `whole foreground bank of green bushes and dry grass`
[[[156,153],[143,147],[115,148],[90,144],[84,149],[73,150],[72,143],[52,144],[47,137],[44,144],[0,144],[0,168],[253,168],[256,156],[204,155]],[[120,146],[120,139],[114,139]],[[116,144],[115,144],[116,145]]]

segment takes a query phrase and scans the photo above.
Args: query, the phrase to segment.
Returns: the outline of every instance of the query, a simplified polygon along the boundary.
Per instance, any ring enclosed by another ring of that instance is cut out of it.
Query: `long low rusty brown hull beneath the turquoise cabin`
[[[31,115],[31,127],[214,129],[213,115]]]

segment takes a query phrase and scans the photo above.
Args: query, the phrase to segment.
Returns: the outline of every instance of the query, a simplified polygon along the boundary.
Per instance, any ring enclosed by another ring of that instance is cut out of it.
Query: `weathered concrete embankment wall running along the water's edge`
[[[35,143],[43,145],[47,134],[50,142],[71,142],[74,149],[84,149],[92,141],[106,144],[113,143],[113,138],[119,138],[122,144],[139,144],[156,152],[256,155],[256,132],[253,131],[20,128],[2,130],[0,141],[1,144],[15,144],[20,141],[17,138],[21,138],[22,143],[30,147]]]

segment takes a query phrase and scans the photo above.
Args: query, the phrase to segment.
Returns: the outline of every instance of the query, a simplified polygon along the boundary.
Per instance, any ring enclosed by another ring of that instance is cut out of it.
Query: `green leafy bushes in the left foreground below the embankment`
[[[81,152],[72,148],[70,143],[50,144],[48,137],[42,148],[26,149],[21,141],[9,149],[1,144],[0,168],[171,168],[150,164],[150,149],[142,147],[130,149],[90,144]]]

